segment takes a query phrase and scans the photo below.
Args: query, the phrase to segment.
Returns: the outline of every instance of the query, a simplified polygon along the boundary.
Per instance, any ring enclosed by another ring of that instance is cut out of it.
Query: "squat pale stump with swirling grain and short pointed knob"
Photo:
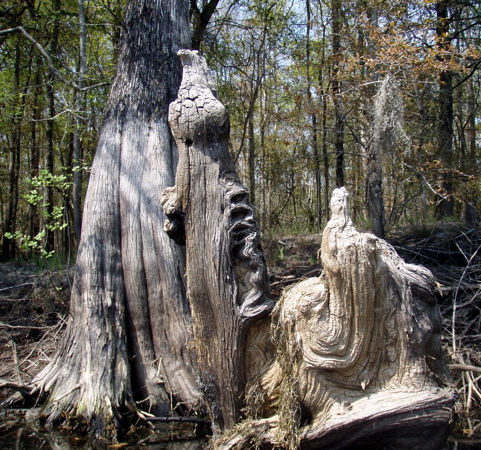
[[[356,231],[345,188],[334,190],[331,210],[325,275],[299,283],[276,306],[279,352],[263,385],[282,405],[282,385],[295,382],[287,396],[299,411],[296,425],[306,423],[301,448],[439,450],[455,396],[432,274]],[[292,415],[279,416],[278,428],[295,429],[285,427]]]

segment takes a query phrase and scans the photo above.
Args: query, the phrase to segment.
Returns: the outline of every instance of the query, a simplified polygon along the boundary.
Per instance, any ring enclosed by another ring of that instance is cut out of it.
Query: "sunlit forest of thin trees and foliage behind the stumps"
[[[477,2],[191,2],[264,233],[479,221]],[[79,4],[83,14],[79,16]],[[0,2],[1,258],[74,256],[122,2]],[[13,239],[12,239],[13,238]]]

